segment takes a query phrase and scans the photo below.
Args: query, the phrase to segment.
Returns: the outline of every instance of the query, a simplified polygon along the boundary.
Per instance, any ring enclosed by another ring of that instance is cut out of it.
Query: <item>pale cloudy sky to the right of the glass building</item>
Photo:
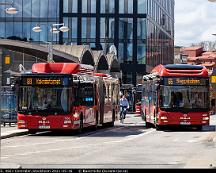
[[[216,41],[216,2],[175,0],[175,45]]]

